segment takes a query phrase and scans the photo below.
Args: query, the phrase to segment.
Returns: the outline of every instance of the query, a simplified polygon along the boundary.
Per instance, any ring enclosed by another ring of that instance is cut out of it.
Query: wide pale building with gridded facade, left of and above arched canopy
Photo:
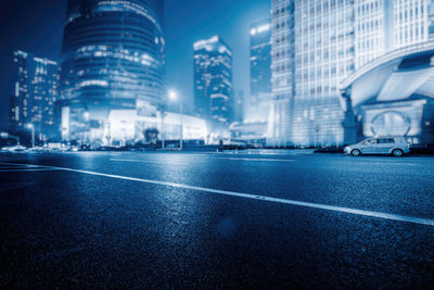
[[[431,0],[272,0],[270,142],[343,144],[341,83],[391,51],[430,41],[430,8]]]

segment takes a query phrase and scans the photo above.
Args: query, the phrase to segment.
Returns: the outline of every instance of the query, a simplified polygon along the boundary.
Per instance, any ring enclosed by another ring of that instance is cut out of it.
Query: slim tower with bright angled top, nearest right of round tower
[[[194,43],[194,106],[201,117],[233,121],[232,51],[219,36]]]

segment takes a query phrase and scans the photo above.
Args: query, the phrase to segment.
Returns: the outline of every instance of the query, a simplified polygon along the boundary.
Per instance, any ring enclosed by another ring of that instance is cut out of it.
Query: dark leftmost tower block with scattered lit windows
[[[46,141],[56,131],[54,105],[58,99],[59,65],[24,51],[14,52],[16,74],[14,94],[10,97],[10,130],[17,135],[29,131]]]

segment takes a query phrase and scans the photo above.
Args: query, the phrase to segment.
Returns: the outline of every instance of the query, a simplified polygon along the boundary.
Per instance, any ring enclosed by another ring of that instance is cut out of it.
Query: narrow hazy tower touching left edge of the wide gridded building
[[[251,25],[251,99],[247,121],[267,119],[271,98],[271,20]]]

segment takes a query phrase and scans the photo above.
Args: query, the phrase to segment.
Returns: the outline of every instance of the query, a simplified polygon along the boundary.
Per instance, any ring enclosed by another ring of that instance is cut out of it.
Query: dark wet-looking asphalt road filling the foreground
[[[433,157],[276,152],[2,153],[0,288],[434,285]]]

